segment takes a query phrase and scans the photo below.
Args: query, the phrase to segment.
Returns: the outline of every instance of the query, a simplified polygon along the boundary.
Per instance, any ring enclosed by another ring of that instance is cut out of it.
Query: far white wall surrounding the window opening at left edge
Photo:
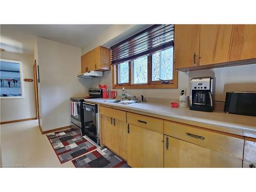
[[[33,79],[33,55],[1,52],[2,59],[22,61],[23,78]],[[22,79],[23,80],[23,79]],[[0,99],[1,102],[1,122],[18,119],[33,118],[35,114],[34,82],[24,82],[25,98],[20,99]]]

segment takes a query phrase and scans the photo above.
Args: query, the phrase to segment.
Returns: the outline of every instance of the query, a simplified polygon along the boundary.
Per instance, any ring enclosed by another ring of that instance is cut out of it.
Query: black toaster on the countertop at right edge
[[[256,116],[256,92],[227,92],[224,112]]]

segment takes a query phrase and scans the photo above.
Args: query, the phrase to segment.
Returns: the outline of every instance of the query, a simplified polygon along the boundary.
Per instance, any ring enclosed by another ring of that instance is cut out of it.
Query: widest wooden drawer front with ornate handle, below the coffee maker
[[[173,121],[164,121],[164,134],[243,159],[244,138],[242,136]]]

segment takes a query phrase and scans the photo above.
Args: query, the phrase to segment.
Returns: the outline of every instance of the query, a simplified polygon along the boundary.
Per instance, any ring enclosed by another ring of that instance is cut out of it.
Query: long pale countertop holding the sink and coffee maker
[[[242,131],[240,135],[246,135],[246,132],[250,132],[256,134],[256,117],[253,116],[245,116],[245,115],[236,115],[236,114],[228,114],[221,111],[214,112],[200,112],[200,111],[192,111],[189,108],[172,108],[170,103],[156,103],[156,102],[143,102],[136,103],[130,105],[118,104],[118,103],[110,103],[106,102],[106,100],[111,99],[103,99],[103,98],[95,98],[95,99],[84,99],[88,102],[100,103],[110,106],[116,106],[118,108],[135,110],[138,112],[146,112],[156,115],[161,115],[165,117],[171,117],[179,120],[188,120],[191,122],[205,123],[209,125],[216,125],[230,129],[229,133],[234,133],[231,129],[236,129]],[[219,130],[221,131],[221,130]]]

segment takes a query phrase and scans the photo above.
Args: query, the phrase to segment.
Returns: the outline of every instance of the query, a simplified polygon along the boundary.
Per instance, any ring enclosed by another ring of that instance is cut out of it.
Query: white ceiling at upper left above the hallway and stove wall
[[[33,54],[36,37],[75,47],[84,47],[112,25],[1,25],[1,48],[10,52]]]

